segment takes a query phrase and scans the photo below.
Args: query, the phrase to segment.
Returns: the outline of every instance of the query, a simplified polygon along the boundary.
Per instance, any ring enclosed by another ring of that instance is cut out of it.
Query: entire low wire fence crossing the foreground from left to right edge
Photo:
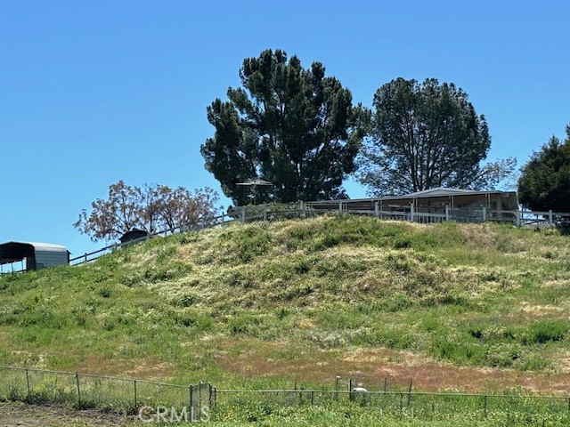
[[[187,414],[224,419],[236,408],[271,411],[291,406],[358,406],[379,415],[413,416],[419,419],[457,417],[487,418],[501,412],[558,414],[570,417],[570,396],[456,393],[354,389],[353,380],[337,377],[329,389],[218,390],[211,383],[188,385],[159,383],[105,375],[79,374],[25,367],[0,367],[0,401],[33,404],[57,403],[97,408],[118,414],[142,414],[143,408],[185,408]],[[352,388],[351,388],[352,387]],[[194,419],[194,418],[193,418]]]

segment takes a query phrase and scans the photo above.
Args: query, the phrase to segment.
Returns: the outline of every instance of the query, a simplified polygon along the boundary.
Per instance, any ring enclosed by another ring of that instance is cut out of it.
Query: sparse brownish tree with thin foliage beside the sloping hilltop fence
[[[93,241],[120,238],[126,231],[149,233],[191,227],[217,214],[219,197],[213,189],[145,184],[142,187],[118,181],[109,187],[106,200],[98,198],[91,213],[83,209],[73,226]]]

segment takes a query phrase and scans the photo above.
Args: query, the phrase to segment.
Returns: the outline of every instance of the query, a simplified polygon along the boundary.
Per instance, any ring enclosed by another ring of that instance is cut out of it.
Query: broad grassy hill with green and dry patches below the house
[[[226,388],[567,390],[568,243],[352,216],[157,238],[0,278],[0,362]]]

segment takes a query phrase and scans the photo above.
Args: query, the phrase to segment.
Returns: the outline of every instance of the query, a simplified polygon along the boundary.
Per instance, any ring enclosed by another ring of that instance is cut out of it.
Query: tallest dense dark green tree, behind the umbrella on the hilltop
[[[224,194],[246,205],[251,189],[238,183],[257,178],[273,184],[256,188],[260,201],[346,196],[342,181],[354,172],[368,110],[354,107],[320,62],[305,69],[281,50],[244,60],[240,79],[229,101],[208,107],[216,132],[200,148]]]

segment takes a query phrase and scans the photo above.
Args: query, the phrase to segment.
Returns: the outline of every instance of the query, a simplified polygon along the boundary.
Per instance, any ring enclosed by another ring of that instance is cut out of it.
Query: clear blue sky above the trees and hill
[[[0,0],[0,243],[102,246],[72,223],[118,180],[219,190],[206,107],[266,48],[367,106],[395,77],[452,82],[487,117],[489,158],[523,165],[570,123],[569,18],[563,0]]]

